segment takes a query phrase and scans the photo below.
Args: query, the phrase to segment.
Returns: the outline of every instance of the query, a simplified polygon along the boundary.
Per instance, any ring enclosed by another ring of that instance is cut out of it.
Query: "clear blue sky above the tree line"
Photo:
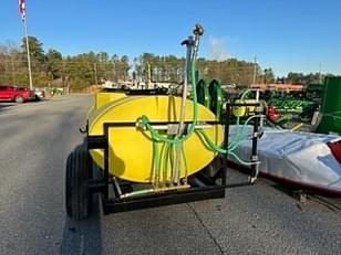
[[[25,0],[29,34],[46,51],[184,55],[204,25],[199,55],[259,60],[276,75],[341,74],[340,0]],[[18,0],[0,1],[0,43],[23,35]]]

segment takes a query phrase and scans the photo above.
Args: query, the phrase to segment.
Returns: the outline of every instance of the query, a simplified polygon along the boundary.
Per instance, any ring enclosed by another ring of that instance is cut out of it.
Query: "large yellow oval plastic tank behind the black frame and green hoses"
[[[101,93],[99,93],[101,94]],[[107,93],[108,94],[108,93]],[[96,95],[95,106],[89,113],[89,135],[103,135],[103,123],[137,123],[145,115],[151,121],[178,121],[180,97],[175,96],[123,96]],[[193,102],[187,99],[186,121],[193,119]],[[205,106],[198,105],[198,123],[214,121],[215,115]],[[217,145],[223,144],[223,127],[206,126],[205,131]],[[165,132],[165,131],[164,131]],[[153,176],[153,140],[148,130],[136,126],[111,127],[108,130],[110,173],[124,180],[148,183]],[[161,153],[165,144],[157,142]],[[184,158],[180,161],[180,178],[190,176],[206,167],[216,156],[194,132],[183,142]],[[90,151],[93,160],[104,167],[103,150]],[[162,157],[162,155],[159,155]],[[169,167],[166,171],[170,171]],[[167,177],[170,176],[168,172]]]

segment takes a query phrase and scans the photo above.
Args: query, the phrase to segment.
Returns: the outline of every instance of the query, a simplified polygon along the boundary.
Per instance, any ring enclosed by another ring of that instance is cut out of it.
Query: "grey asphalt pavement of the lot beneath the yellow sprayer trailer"
[[[91,102],[0,103],[0,254],[341,254],[340,198],[300,203],[265,179],[224,200],[105,216],[95,201],[89,220],[69,219],[65,160],[82,144]]]

